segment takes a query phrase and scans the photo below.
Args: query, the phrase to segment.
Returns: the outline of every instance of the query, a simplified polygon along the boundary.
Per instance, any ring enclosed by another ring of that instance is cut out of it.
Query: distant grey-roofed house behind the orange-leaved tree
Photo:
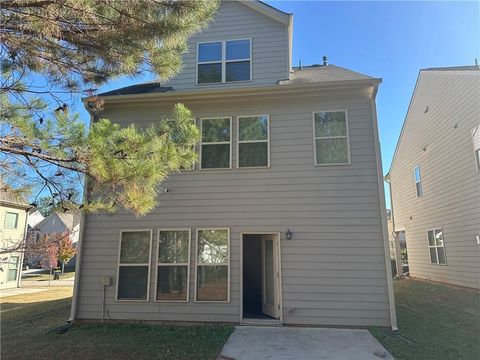
[[[48,235],[52,233],[64,233],[68,232],[72,244],[76,247],[78,243],[78,236],[80,233],[80,212],[71,211],[67,213],[54,212],[49,216],[44,218],[34,227],[29,229],[28,237],[29,241],[36,241],[40,239],[43,235]],[[32,262],[35,262],[35,259],[30,259]],[[68,263],[67,267],[75,266],[76,256],[74,256]]]

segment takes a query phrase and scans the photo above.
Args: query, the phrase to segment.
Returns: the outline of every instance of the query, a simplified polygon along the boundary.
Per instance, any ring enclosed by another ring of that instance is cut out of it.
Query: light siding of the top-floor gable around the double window
[[[197,84],[197,43],[252,39],[252,80],[225,84]],[[215,20],[203,32],[188,41],[183,56],[183,71],[165,82],[175,90],[251,87],[273,85],[288,79],[287,27],[237,1],[223,1]]]

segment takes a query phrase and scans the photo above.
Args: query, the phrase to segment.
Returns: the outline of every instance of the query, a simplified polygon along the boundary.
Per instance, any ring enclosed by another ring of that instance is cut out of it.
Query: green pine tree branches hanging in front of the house
[[[3,0],[0,175],[5,190],[51,196],[57,210],[156,206],[161,183],[191,167],[199,133],[179,104],[148,129],[99,119],[87,129],[68,100],[121,75],[181,69],[186,40],[218,0]],[[38,75],[48,85],[41,86]],[[88,106],[101,109],[90,96]],[[53,105],[53,107],[52,107]],[[84,181],[86,179],[86,181]],[[87,186],[80,199],[79,184]]]

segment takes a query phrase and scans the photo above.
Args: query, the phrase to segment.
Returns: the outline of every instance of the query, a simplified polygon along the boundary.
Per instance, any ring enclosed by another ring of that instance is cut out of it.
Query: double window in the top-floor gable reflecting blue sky
[[[198,84],[251,80],[251,39],[198,43],[197,63]]]

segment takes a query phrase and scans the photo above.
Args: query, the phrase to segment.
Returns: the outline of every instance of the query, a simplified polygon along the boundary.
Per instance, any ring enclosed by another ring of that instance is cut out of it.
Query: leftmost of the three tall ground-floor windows
[[[152,231],[120,233],[117,300],[148,300]]]

